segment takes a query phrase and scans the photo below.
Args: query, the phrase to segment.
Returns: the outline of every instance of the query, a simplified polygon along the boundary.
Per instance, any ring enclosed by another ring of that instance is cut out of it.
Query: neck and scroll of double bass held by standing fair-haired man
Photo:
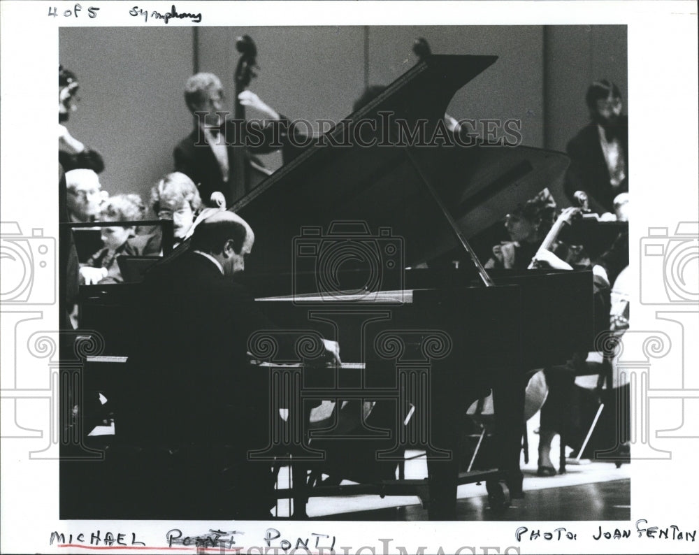
[[[257,45],[249,35],[239,36],[236,39],[236,50],[240,52],[236,74],[233,77],[235,83],[235,104],[233,106],[233,118],[236,123],[236,145],[233,147],[233,159],[231,160],[231,182],[229,183],[229,196],[231,201],[236,201],[257,187],[264,181],[271,171],[262,166],[259,161],[250,156],[246,145],[246,120],[245,106],[238,96],[250,85],[252,78],[257,77]]]

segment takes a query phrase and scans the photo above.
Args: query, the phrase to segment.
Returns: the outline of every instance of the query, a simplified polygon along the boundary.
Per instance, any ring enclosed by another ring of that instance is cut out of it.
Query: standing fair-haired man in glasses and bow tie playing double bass
[[[282,126],[271,122],[279,121],[282,117],[250,90],[241,92],[238,101],[242,106],[258,110],[266,122],[264,126],[257,126],[262,136],[259,145],[249,146],[247,150],[264,154],[281,147],[277,141],[280,140]],[[221,81],[213,73],[192,75],[185,85],[185,102],[196,118],[196,124],[192,133],[175,147],[175,171],[192,178],[207,206],[216,206],[211,200],[214,192],[224,194],[227,205],[231,206],[236,199],[231,198],[229,185],[233,179],[233,147],[230,143],[237,134],[233,121],[225,117]],[[197,112],[206,115],[200,118],[196,116]]]

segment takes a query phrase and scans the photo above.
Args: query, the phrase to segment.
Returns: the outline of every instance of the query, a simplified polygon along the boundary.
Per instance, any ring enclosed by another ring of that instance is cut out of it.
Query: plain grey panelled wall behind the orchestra
[[[584,94],[593,80],[614,80],[627,98],[621,25],[64,27],[59,62],[80,80],[68,127],[103,155],[104,189],[138,192],[147,202],[150,187],[172,171],[173,147],[192,129],[182,89],[195,69],[219,75],[232,112],[235,41],[242,34],[258,50],[250,89],[292,120],[342,119],[365,84],[387,85],[417,62],[418,37],[435,54],[498,56],[447,111],[456,118],[517,118],[525,145],[565,150],[588,122]],[[273,169],[281,164],[278,153],[264,159]]]

